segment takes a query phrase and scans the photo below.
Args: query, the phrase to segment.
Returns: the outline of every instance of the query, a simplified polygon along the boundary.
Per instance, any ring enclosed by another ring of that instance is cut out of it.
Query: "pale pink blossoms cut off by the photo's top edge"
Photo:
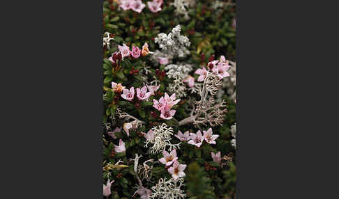
[[[147,2],[149,6],[149,10],[152,13],[157,13],[161,10],[161,5],[163,4],[163,0],[153,0]],[[141,13],[142,10],[146,7],[142,0],[120,0],[120,8],[123,10],[133,10],[137,13]]]

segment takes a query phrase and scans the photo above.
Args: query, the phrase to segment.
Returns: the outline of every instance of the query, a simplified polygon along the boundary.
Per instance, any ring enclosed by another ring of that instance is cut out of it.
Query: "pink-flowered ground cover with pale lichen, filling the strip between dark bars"
[[[236,198],[235,1],[103,1],[103,198]]]

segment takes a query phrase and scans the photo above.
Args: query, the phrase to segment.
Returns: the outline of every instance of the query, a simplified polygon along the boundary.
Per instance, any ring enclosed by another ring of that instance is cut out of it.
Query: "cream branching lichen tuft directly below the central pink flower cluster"
[[[173,129],[172,127],[167,127],[165,123],[158,125],[152,128],[154,138],[149,141],[146,139],[145,147],[148,147],[149,144],[152,146],[149,148],[151,154],[157,154],[158,152],[163,152],[168,147],[170,151],[173,149],[179,148],[180,143],[172,144]]]

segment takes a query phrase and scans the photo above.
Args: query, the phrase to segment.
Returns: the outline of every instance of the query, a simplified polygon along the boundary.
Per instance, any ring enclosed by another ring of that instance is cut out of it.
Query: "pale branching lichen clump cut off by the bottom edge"
[[[179,182],[179,184],[177,184]],[[152,186],[151,188],[151,199],[181,199],[186,198],[186,193],[181,190],[181,186],[183,184],[183,178],[179,178],[178,180],[174,180],[173,178],[166,180],[160,178],[158,184]]]

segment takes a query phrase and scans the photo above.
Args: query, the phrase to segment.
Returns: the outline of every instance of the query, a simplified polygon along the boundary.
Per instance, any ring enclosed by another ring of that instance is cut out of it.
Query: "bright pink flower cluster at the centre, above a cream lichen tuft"
[[[158,100],[153,100],[153,107],[160,111],[160,118],[165,120],[170,120],[173,118],[176,110],[171,110],[171,108],[180,102],[179,100],[175,100],[175,93],[169,97],[167,93],[165,93],[165,97],[160,97]]]

